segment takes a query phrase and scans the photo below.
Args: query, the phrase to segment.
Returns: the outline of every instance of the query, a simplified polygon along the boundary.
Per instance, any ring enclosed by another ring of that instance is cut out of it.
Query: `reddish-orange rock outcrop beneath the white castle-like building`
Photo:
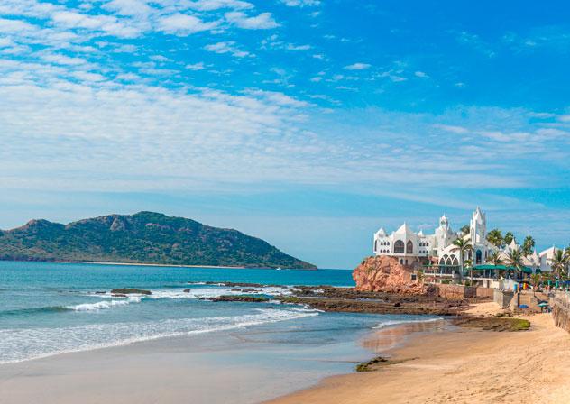
[[[356,290],[418,295],[422,283],[411,280],[413,271],[392,257],[368,257],[353,271]]]

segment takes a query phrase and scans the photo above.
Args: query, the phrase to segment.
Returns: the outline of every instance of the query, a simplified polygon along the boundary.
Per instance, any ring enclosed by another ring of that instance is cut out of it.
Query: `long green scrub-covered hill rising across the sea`
[[[69,225],[31,220],[0,231],[0,260],[317,268],[237,230],[153,212]]]

